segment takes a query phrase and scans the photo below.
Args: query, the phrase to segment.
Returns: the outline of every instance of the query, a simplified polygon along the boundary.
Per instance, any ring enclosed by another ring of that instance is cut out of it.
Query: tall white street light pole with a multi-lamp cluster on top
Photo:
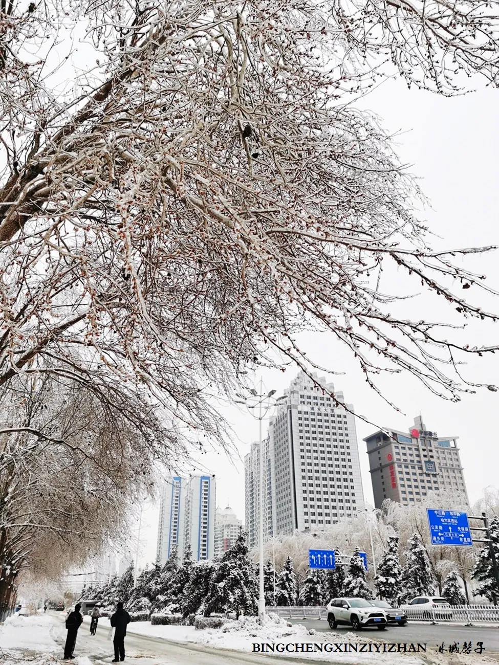
[[[258,620],[260,624],[263,624],[265,620],[265,591],[263,587],[263,446],[261,444],[261,421],[263,418],[270,416],[270,412],[273,411],[277,402],[283,400],[285,395],[275,398],[275,390],[264,392],[263,381],[261,379],[258,382],[258,391],[255,390],[255,388],[250,388],[248,396],[239,393],[236,393],[236,395],[241,398],[240,400],[236,400],[236,404],[244,404],[248,409],[249,414],[258,420]]]

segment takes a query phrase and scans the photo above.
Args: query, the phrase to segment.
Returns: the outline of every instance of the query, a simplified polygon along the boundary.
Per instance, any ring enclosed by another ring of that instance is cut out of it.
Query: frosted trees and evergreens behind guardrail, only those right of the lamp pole
[[[488,547],[435,547],[430,544],[426,507],[460,509],[470,513],[462,504],[462,497],[454,493],[430,493],[421,503],[403,506],[391,501],[383,509],[371,513],[359,511],[356,517],[340,522],[323,531],[283,535],[265,543],[265,583],[267,604],[273,600],[272,565],[275,562],[276,581],[281,571],[293,564],[296,580],[294,594],[289,598],[303,604],[304,600],[323,601],[330,598],[331,580],[335,583],[333,595],[366,595],[393,602],[405,602],[423,594],[446,595],[454,604],[458,601],[488,602],[498,600],[498,587],[492,571]],[[489,515],[499,503],[490,503]],[[478,508],[478,507],[477,507]],[[474,509],[472,510],[472,512]],[[477,524],[479,526],[480,524]],[[490,520],[492,540],[499,560],[499,517]],[[371,535],[370,535],[371,532]],[[373,571],[371,537],[376,560],[377,575]],[[309,549],[334,549],[337,561],[342,563],[336,573],[309,570]],[[367,553],[369,571],[365,573],[358,551]],[[257,553],[251,553],[256,559]],[[266,591],[267,591],[266,587]],[[311,604],[320,604],[313,602]]]

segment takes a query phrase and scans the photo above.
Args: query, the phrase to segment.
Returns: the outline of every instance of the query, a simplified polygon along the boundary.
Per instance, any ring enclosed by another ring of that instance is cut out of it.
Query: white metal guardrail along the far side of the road
[[[325,607],[267,607],[267,612],[292,619],[327,618]],[[407,618],[416,621],[459,621],[464,623],[499,623],[499,606],[452,605],[448,608],[406,608]]]

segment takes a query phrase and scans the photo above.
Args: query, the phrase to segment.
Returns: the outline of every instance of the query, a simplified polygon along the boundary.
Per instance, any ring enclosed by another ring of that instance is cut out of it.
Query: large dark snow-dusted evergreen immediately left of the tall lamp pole
[[[258,584],[249,560],[246,534],[240,533],[212,577],[205,615],[213,612],[236,612],[236,618],[240,614],[257,615],[257,597]]]

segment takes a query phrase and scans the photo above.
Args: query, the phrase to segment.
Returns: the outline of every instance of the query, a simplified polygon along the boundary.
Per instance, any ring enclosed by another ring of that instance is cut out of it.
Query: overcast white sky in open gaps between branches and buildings
[[[363,100],[363,106],[379,114],[389,131],[407,131],[397,140],[398,152],[401,161],[411,164],[409,170],[421,178],[420,187],[432,204],[432,209],[426,211],[426,219],[430,229],[442,238],[432,244],[456,248],[498,242],[497,92],[482,86],[478,92],[448,99],[430,92],[407,90],[401,81],[391,80]],[[498,253],[471,259],[466,265],[486,274],[490,285],[499,289]],[[466,295],[471,298],[473,294],[468,291]],[[425,298],[422,295],[411,304],[413,319],[438,319],[434,301]],[[492,308],[492,304],[489,307]],[[494,309],[499,311],[499,297]],[[472,345],[486,344],[495,341],[497,334],[492,325],[474,325],[469,341]],[[329,374],[327,378],[333,380],[337,390],[343,390],[355,411],[371,422],[408,430],[413,418],[421,413],[429,430],[436,430],[439,436],[458,436],[471,502],[480,497],[484,487],[499,484],[496,420],[499,392],[481,390],[454,404],[435,397],[408,375],[380,380],[379,385],[403,412],[399,414],[369,390],[353,358],[347,356],[346,349],[331,336],[304,334],[301,344],[323,366],[345,372],[342,376]],[[464,374],[472,380],[499,383],[498,370],[499,354],[496,354],[470,358]],[[263,381],[268,389],[275,388],[279,392],[296,373],[294,369],[285,373],[266,371]],[[249,444],[257,440],[258,425],[237,408],[224,407],[224,414],[239,438],[234,443],[241,460],[231,462],[224,454],[210,454],[204,456],[203,462],[216,473],[218,505],[223,508],[229,502],[244,519],[242,458]],[[357,419],[365,500],[371,503],[373,492],[362,439],[372,431],[372,426]],[[156,556],[157,529],[158,507],[147,507],[140,539],[141,565]]]

